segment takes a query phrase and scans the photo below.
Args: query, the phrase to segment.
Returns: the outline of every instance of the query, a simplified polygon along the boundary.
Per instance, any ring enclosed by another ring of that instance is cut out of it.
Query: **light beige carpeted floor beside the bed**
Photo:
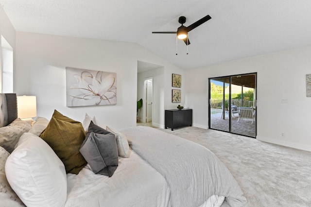
[[[311,152],[196,127],[159,130],[217,155],[240,184],[245,207],[311,207]]]

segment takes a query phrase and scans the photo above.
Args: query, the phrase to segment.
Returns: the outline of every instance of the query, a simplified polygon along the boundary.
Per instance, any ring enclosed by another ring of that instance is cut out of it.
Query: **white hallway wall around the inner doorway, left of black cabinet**
[[[152,69],[138,73],[137,78],[137,98],[143,99],[143,107],[139,110],[138,120],[143,121],[146,117],[146,97],[144,92],[144,81],[147,78],[153,78],[153,106],[152,106],[152,124],[164,128],[164,67]]]

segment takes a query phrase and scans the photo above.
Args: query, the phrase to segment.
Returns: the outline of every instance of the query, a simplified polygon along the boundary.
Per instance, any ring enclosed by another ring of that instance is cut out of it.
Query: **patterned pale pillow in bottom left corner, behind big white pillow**
[[[10,154],[5,149],[0,147],[0,206],[21,207],[24,206],[23,203],[14,190],[12,190],[5,176],[4,166],[9,155]]]

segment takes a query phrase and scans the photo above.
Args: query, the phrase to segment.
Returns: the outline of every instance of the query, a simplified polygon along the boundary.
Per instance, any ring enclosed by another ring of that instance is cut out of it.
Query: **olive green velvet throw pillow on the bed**
[[[74,121],[55,110],[52,119],[40,137],[62,160],[66,173],[78,174],[86,165],[86,160],[79,152],[80,146],[86,138],[81,122]]]

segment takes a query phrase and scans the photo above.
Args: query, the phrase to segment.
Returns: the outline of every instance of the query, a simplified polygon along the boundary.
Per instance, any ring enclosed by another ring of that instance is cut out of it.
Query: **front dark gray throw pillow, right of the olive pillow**
[[[80,153],[84,156],[92,171],[111,177],[119,164],[118,148],[115,135],[89,132],[81,145]]]

